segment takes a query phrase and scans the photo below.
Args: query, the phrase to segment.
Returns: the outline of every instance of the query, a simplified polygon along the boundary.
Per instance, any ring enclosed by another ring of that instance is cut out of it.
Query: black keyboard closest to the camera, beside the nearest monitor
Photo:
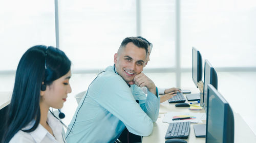
[[[187,138],[190,130],[190,122],[170,123],[165,138]]]

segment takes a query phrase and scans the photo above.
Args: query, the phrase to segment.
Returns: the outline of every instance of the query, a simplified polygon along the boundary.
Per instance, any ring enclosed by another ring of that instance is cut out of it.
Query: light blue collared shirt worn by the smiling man
[[[148,136],[158,118],[159,104],[158,90],[157,96],[150,91],[145,96],[137,85],[129,88],[114,66],[109,66],[81,99],[69,129],[76,120],[75,124],[66,133],[67,142],[114,142],[125,126],[133,134]]]

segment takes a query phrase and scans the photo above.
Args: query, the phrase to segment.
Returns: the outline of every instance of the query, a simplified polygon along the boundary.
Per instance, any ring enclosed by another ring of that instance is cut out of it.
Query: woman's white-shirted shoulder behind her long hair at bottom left
[[[17,143],[17,142],[34,142],[33,137],[30,133],[19,130],[9,141],[9,143]]]

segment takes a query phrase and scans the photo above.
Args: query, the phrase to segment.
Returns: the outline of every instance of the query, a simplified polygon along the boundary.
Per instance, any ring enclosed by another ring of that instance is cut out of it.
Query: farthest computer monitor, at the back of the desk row
[[[202,80],[202,56],[195,47],[192,47],[192,78],[197,87],[197,82]]]

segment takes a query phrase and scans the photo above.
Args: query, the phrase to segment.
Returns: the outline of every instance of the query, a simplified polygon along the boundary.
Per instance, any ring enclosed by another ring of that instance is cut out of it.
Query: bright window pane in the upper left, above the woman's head
[[[34,45],[55,46],[54,1],[1,1],[0,9],[0,70],[16,70]]]

